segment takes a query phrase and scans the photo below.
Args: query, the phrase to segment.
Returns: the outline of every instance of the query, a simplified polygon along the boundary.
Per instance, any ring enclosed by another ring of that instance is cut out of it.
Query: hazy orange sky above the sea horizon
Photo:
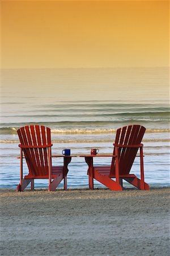
[[[163,67],[169,1],[1,1],[2,68]]]

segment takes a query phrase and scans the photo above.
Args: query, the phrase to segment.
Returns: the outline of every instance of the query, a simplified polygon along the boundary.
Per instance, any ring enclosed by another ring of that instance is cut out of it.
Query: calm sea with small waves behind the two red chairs
[[[90,153],[91,148],[112,153],[117,128],[143,125],[145,181],[151,187],[168,186],[168,96],[167,68],[2,70],[0,188],[16,188],[19,183],[16,130],[31,123],[50,127],[52,154],[70,148],[78,155]],[[53,164],[62,161],[54,158]],[[102,165],[111,159],[95,161]],[[139,158],[131,173],[140,176]],[[68,188],[88,187],[83,158],[72,159],[67,177]],[[126,182],[124,186],[130,187]],[[40,187],[48,187],[48,180],[35,180],[35,188]],[[95,187],[103,185],[95,181]]]

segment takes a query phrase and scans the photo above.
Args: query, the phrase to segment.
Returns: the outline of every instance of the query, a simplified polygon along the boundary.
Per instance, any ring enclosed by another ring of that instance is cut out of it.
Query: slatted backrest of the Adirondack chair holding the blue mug
[[[45,146],[51,143],[50,129],[45,126],[27,125],[18,131],[20,143],[24,146]],[[29,174],[48,175],[48,148],[23,148]]]

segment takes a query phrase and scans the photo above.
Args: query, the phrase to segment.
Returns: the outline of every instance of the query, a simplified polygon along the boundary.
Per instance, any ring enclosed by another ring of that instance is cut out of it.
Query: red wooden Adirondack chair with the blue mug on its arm
[[[50,129],[39,125],[26,125],[18,131],[20,139],[20,183],[17,191],[23,191],[31,182],[34,189],[34,179],[49,179],[49,191],[54,191],[64,179],[64,189],[67,189],[67,166],[71,156],[63,156],[63,166],[52,166]],[[23,152],[28,166],[28,175],[23,178]]]

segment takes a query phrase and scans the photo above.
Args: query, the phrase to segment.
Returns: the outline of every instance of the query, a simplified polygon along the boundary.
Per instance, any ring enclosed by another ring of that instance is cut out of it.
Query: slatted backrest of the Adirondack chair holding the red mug
[[[137,145],[141,144],[146,128],[141,125],[124,126],[117,130],[115,144]],[[129,174],[133,165],[138,148],[119,148],[119,171],[120,174]],[[113,155],[115,154],[115,148]],[[115,158],[112,159],[111,172],[115,173]]]

